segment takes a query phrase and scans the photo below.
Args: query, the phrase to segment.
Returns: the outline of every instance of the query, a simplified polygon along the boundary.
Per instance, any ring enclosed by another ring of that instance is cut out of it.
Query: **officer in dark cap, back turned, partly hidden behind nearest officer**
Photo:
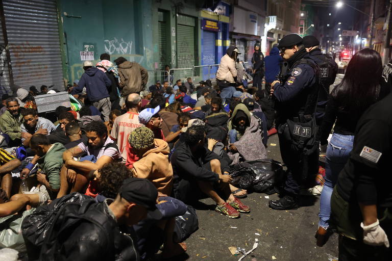
[[[320,42],[312,35],[304,38],[304,46],[310,58],[320,67],[320,90],[318,90],[316,122],[320,125],[325,114],[325,107],[329,98],[329,86],[335,82],[337,64],[332,57],[321,52]],[[325,146],[326,147],[326,146]]]

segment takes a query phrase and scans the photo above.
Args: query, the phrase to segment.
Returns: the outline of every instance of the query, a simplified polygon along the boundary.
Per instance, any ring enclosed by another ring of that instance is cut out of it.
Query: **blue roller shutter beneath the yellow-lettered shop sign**
[[[216,64],[215,39],[215,32],[203,31],[202,65]],[[216,70],[216,68],[214,69]],[[210,74],[214,74],[214,72],[210,71]],[[208,74],[208,68],[203,67],[203,80],[209,79],[211,77],[210,74]]]

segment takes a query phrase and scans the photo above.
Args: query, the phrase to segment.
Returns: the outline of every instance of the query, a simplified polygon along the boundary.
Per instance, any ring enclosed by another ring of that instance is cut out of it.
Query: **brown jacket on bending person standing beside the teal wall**
[[[139,93],[149,81],[147,70],[136,62],[125,61],[119,64],[118,73],[122,97],[126,97],[131,93]]]

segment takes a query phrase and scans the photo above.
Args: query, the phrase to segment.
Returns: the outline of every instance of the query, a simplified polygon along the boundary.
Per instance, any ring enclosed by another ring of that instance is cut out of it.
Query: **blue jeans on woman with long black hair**
[[[325,162],[325,182],[320,196],[320,221],[318,226],[325,229],[329,226],[331,215],[331,195],[340,171],[346,165],[350,151],[353,149],[354,136],[334,133],[327,147]]]

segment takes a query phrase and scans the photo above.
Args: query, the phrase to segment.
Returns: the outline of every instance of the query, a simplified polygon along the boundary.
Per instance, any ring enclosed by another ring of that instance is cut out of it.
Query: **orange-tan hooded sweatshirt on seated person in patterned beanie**
[[[170,196],[173,189],[173,169],[169,162],[169,145],[164,140],[154,139],[154,148],[143,154],[133,164],[135,177],[153,182],[159,192]]]

